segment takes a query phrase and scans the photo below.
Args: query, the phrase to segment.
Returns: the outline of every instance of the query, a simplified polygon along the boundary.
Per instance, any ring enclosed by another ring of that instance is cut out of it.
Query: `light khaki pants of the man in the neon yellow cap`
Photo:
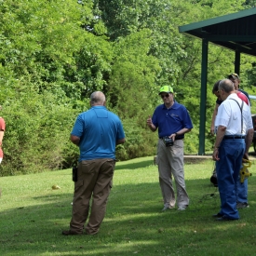
[[[183,169],[183,141],[174,141],[173,146],[166,147],[165,142],[159,139],[156,164],[165,207],[173,208],[176,203],[172,176],[176,184],[178,207],[188,206],[189,197],[185,189]]]

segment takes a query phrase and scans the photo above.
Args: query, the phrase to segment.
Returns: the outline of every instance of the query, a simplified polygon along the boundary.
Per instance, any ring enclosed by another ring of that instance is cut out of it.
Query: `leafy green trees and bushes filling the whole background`
[[[157,132],[148,115],[171,85],[194,123],[184,151],[198,147],[201,42],[178,26],[255,6],[244,0],[0,1],[0,103],[7,121],[1,175],[70,167],[78,148],[69,141],[76,116],[101,90],[123,121],[127,142],[117,158],[155,155]],[[206,151],[216,98],[214,83],[234,72],[234,53],[209,45]],[[255,92],[255,63],[242,56],[241,88]]]

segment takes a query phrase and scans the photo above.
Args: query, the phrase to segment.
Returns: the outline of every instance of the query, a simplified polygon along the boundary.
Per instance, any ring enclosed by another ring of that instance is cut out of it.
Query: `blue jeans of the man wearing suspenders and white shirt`
[[[218,187],[221,196],[221,211],[223,217],[237,220],[236,182],[245,152],[245,140],[222,140],[219,149],[220,160],[216,162]]]

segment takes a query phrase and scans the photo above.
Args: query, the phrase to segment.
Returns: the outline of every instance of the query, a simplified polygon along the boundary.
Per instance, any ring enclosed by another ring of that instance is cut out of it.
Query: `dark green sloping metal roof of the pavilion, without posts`
[[[256,7],[179,27],[221,47],[256,56]]]

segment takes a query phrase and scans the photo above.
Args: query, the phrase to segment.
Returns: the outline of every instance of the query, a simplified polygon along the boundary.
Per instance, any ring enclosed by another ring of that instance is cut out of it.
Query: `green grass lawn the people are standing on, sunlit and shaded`
[[[213,162],[185,164],[191,204],[161,212],[153,157],[119,162],[107,213],[96,236],[62,236],[69,228],[71,169],[2,177],[0,255],[255,255],[256,169],[249,168],[249,209],[236,222],[215,222],[219,193],[209,177]],[[52,190],[57,184],[59,190]]]

